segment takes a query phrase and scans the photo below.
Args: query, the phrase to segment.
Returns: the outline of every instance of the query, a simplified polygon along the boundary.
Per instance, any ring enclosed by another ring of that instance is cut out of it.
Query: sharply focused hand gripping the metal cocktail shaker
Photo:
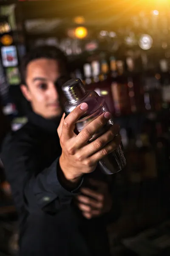
[[[115,137],[119,133],[119,125],[112,125],[105,134],[88,143],[88,140],[111,118],[109,112],[102,113],[78,135],[75,134],[76,122],[87,110],[88,105],[82,103],[65,119],[63,114],[57,129],[62,147],[59,164],[65,178],[70,181],[79,179],[85,173],[93,172],[99,160],[114,151],[121,142],[120,135]]]

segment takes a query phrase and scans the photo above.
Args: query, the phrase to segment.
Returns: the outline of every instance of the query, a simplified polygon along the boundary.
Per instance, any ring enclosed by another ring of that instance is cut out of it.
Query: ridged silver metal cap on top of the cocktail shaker
[[[62,85],[62,91],[68,102],[76,102],[79,99],[82,99],[87,93],[84,84],[79,78],[68,80]]]

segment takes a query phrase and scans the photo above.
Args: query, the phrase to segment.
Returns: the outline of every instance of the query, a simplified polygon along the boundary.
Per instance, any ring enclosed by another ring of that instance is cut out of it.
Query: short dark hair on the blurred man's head
[[[26,84],[26,69],[29,64],[29,62],[40,59],[40,58],[48,58],[48,59],[54,59],[62,61],[62,63],[65,65],[66,69],[68,68],[68,61],[67,57],[65,56],[64,52],[62,52],[59,48],[55,46],[39,46],[34,47],[31,49],[30,52],[28,52],[21,61],[21,82],[22,84]]]

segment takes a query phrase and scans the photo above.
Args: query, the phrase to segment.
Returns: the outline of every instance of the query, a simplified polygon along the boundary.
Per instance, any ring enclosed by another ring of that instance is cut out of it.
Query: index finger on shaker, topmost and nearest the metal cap
[[[62,136],[65,140],[70,139],[74,134],[75,124],[79,118],[88,110],[87,103],[83,102],[77,106],[62,123]]]

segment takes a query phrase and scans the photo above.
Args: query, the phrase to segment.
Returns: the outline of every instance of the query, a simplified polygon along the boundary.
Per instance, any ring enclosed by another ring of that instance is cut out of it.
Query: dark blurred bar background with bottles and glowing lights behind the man
[[[0,0],[0,145],[26,121],[20,60],[55,45],[72,77],[105,97],[127,167],[108,227],[114,256],[170,255],[170,1]],[[16,255],[17,214],[0,163],[0,251]],[[1,255],[1,254],[0,254]]]

